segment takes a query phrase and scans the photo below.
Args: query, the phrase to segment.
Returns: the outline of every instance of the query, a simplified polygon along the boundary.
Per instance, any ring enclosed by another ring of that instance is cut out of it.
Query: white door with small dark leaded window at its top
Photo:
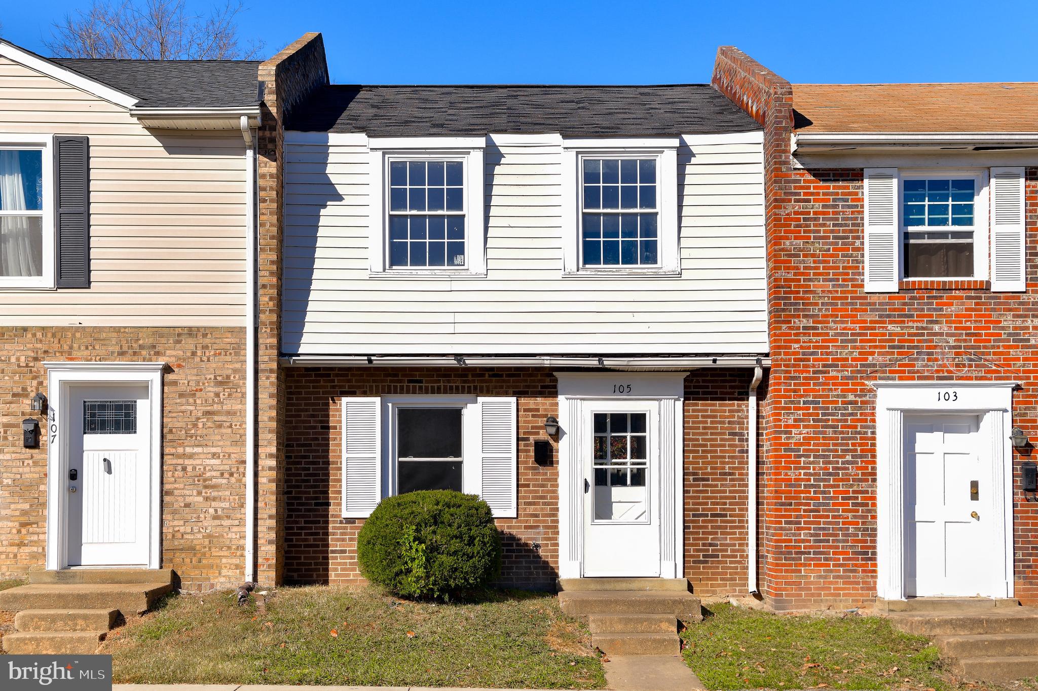
[[[64,412],[70,566],[147,564],[147,385],[71,387]]]

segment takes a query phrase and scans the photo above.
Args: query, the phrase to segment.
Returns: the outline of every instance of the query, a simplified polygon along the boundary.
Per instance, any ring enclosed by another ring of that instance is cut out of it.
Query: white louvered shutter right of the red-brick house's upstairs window
[[[991,168],[991,289],[1027,289],[1023,168]]]

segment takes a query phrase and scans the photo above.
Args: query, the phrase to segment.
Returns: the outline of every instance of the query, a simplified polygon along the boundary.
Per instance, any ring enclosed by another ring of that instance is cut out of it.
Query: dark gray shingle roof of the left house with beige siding
[[[233,108],[260,103],[258,60],[53,61],[137,96],[138,108]]]

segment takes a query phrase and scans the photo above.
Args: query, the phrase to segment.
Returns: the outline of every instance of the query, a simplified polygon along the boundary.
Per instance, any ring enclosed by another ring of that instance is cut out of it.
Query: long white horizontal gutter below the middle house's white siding
[[[771,359],[756,355],[718,355],[703,357],[588,357],[566,355],[290,355],[281,358],[290,367],[372,365],[376,367],[635,367],[651,369],[688,369],[689,367],[769,366]]]

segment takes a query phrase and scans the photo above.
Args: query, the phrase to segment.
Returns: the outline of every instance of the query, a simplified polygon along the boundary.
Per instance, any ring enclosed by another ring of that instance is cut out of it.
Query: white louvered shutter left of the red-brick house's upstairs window
[[[865,292],[897,293],[898,169],[865,169]]]

